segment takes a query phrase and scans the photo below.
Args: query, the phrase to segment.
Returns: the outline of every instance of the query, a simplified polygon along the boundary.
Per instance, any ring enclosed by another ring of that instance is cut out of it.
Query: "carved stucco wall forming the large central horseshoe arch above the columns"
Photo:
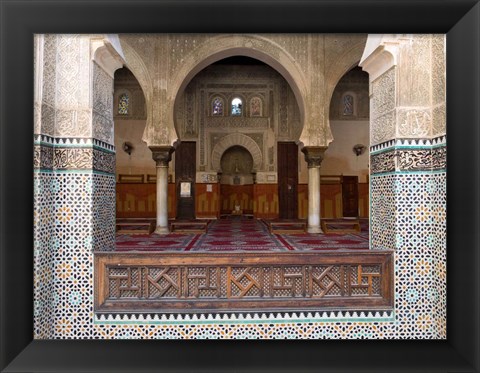
[[[177,139],[174,106],[198,72],[222,58],[245,55],[269,64],[286,79],[300,108],[300,141],[314,146],[332,140],[328,103],[337,82],[359,61],[366,35],[128,34],[120,39],[127,66],[147,98],[148,145]]]

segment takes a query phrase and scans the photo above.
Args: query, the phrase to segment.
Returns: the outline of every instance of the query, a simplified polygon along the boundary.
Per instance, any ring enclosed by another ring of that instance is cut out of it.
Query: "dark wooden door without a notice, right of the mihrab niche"
[[[278,203],[280,219],[298,219],[298,146],[277,145]]]

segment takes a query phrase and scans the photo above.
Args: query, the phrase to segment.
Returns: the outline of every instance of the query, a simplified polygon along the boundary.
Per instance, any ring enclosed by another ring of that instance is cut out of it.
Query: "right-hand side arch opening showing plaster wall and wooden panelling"
[[[330,100],[329,144],[321,167],[324,219],[369,218],[369,76],[358,65],[337,83]],[[331,203],[332,201],[338,203]]]

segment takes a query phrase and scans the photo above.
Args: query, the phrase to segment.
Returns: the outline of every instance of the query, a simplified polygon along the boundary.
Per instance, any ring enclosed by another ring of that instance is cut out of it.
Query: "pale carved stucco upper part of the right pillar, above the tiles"
[[[444,35],[386,35],[371,40],[367,50],[374,44],[377,49],[366,52],[362,61],[364,69],[373,72],[371,144],[444,135]],[[382,64],[378,65],[380,60]]]

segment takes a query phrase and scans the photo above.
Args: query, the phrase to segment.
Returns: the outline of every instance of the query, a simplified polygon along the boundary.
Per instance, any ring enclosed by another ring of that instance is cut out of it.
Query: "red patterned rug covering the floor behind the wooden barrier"
[[[209,224],[207,234],[118,234],[117,251],[311,251],[368,249],[368,224],[358,234],[270,234],[260,220],[232,217]]]

